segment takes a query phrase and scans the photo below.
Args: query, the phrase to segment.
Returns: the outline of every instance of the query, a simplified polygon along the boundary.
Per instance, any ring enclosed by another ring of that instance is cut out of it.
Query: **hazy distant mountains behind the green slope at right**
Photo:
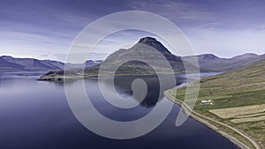
[[[204,54],[197,57],[201,69],[219,72],[232,71],[265,60],[265,55],[258,56],[250,53],[231,58],[220,58],[212,54]],[[183,61],[189,61],[192,58],[192,56],[182,57]]]

